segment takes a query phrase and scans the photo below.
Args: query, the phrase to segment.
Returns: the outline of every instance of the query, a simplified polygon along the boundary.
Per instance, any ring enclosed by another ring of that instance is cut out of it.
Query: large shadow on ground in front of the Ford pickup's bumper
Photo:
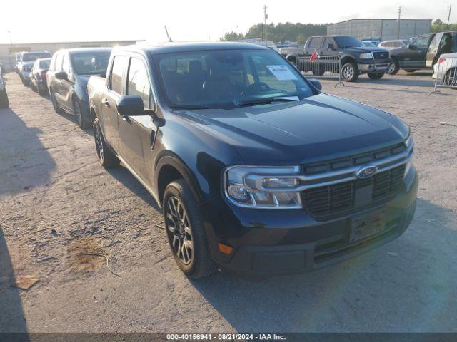
[[[194,286],[237,331],[457,331],[456,213],[423,199],[396,241],[311,274]]]

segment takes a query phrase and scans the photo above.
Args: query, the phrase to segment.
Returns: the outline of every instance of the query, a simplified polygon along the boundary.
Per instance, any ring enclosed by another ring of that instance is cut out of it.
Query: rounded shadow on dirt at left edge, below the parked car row
[[[1,109],[0,120],[0,195],[48,184],[56,163],[38,138],[41,130],[11,109]]]

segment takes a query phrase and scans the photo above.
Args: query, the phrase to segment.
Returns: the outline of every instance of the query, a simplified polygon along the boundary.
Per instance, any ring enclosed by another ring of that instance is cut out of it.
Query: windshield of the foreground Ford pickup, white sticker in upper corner
[[[229,109],[313,95],[296,68],[271,50],[164,53],[154,63],[171,107]]]

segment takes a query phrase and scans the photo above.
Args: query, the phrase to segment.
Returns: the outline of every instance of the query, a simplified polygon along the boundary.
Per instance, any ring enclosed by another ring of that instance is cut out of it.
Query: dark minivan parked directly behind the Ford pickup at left
[[[111,48],[71,48],[52,56],[46,80],[56,113],[73,114],[81,128],[94,120],[89,113],[87,81],[91,75],[104,76]]]

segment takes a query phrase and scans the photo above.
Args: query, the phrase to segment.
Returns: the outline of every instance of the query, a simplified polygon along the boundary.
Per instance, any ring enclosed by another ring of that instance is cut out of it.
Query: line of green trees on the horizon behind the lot
[[[248,29],[246,34],[235,31],[227,32],[220,38],[221,41],[238,41],[246,38],[263,38],[264,24],[256,24]],[[266,38],[276,43],[285,41],[296,41],[305,43],[311,36],[320,36],[327,33],[327,24],[301,24],[301,23],[279,23],[267,24]]]

